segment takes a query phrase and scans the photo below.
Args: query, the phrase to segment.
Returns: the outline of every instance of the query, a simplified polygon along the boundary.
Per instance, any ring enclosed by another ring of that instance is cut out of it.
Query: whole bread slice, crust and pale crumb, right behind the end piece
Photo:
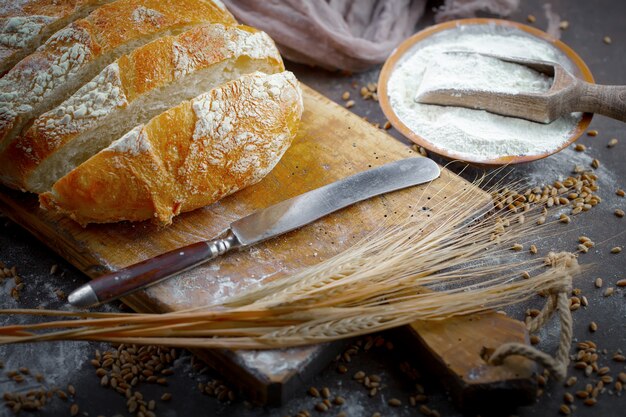
[[[0,179],[42,193],[140,123],[224,82],[284,70],[265,33],[247,26],[200,26],[119,58],[0,154]]]

